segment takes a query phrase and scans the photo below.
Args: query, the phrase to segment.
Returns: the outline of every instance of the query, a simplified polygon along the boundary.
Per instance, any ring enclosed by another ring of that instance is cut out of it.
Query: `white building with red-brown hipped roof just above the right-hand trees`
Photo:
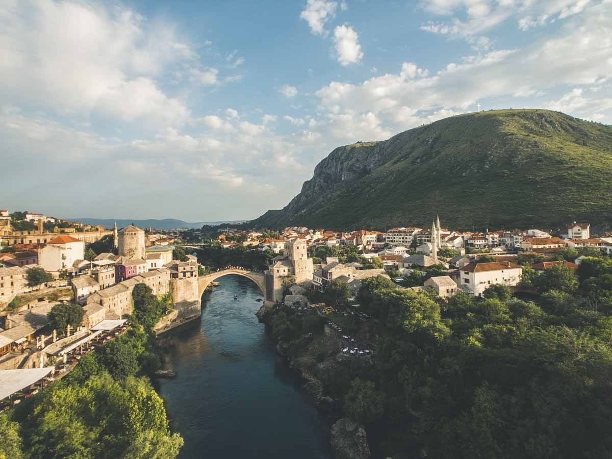
[[[470,263],[461,268],[461,289],[482,296],[483,291],[493,284],[517,285],[521,275],[523,268],[510,261]]]

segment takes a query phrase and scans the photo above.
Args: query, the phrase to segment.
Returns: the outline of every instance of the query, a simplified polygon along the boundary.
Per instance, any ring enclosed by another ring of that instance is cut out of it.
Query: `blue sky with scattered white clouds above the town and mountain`
[[[0,56],[0,208],[64,218],[255,218],[477,103],[612,124],[612,0],[0,0]]]

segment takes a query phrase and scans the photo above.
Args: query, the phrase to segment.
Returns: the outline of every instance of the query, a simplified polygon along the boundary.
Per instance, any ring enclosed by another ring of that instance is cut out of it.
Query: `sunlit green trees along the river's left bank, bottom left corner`
[[[146,285],[133,293],[132,327],[64,378],[0,415],[0,458],[171,459],[183,444],[149,378],[159,369],[152,324],[171,304]]]

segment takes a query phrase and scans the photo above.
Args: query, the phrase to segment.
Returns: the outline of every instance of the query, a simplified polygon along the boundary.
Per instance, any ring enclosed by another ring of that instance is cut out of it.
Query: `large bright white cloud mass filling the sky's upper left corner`
[[[197,59],[173,26],[80,1],[5,2],[0,17],[4,102],[27,101],[61,114],[101,111],[122,121],[181,124],[187,118],[184,102],[156,83],[170,65]]]

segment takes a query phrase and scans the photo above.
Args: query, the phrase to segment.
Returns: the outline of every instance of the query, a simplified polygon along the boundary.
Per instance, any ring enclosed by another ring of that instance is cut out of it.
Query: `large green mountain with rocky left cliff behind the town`
[[[464,230],[612,220],[612,127],[548,110],[442,119],[338,147],[282,210],[249,226]]]

